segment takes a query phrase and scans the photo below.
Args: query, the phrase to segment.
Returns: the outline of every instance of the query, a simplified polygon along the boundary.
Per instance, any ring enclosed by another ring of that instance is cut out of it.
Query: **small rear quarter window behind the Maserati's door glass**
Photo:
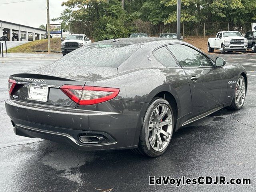
[[[161,47],[155,50],[153,55],[163,66],[179,67],[176,60],[173,58],[172,54],[170,54],[166,47]]]

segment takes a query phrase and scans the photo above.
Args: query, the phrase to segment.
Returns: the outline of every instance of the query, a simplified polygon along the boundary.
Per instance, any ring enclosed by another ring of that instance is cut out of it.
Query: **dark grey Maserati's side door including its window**
[[[222,67],[214,63],[202,52],[185,45],[167,46],[186,73],[192,97],[192,114],[198,115],[224,102],[226,88],[222,79]],[[181,51],[182,50],[182,51]]]

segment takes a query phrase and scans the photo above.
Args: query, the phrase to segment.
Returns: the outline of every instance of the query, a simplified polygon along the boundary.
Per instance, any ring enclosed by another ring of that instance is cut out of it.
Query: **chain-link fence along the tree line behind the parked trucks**
[[[150,22],[125,23],[124,26],[130,33],[142,32],[147,33],[150,37],[158,37],[160,33],[176,32],[176,23],[153,25]],[[93,39],[95,25],[91,22],[72,22],[70,32],[77,34],[86,34]],[[181,23],[180,34],[186,36],[216,36],[218,31],[239,31],[241,34],[252,29],[252,23],[234,24],[229,22],[206,22],[206,23]]]

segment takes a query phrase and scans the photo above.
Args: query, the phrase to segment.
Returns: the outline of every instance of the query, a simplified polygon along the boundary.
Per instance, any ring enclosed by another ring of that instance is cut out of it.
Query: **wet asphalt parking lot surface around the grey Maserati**
[[[1,192],[256,191],[256,54],[211,54],[242,64],[248,91],[239,111],[226,108],[174,133],[158,158],[130,150],[78,151],[38,138],[16,136],[6,114],[8,77],[50,64],[61,54],[8,54],[0,58]],[[150,186],[149,176],[250,178],[251,185]]]

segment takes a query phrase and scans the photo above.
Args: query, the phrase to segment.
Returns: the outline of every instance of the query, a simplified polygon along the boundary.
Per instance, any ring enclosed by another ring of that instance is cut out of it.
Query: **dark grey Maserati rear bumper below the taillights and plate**
[[[7,100],[5,106],[16,135],[65,142],[79,150],[138,146],[140,110],[116,113],[52,106],[49,109],[14,100]],[[100,136],[103,139],[99,143],[83,143],[80,136]]]

